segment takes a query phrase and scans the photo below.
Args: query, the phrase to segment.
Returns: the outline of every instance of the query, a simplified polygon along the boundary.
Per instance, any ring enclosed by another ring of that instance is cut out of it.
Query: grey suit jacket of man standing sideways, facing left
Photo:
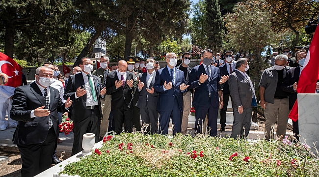
[[[250,87],[249,80],[237,70],[229,75],[228,84],[230,95],[233,98],[233,107],[242,106],[244,109],[252,107],[253,90]]]

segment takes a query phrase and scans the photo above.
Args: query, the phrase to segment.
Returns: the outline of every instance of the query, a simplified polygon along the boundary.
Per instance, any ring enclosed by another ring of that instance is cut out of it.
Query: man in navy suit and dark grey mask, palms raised
[[[195,89],[193,97],[193,105],[196,110],[195,130],[196,133],[203,133],[203,121],[208,114],[210,135],[216,136],[218,106],[222,107],[223,102],[222,94],[218,97],[218,91],[221,92],[228,76],[220,77],[219,69],[211,65],[213,62],[212,50],[204,50],[201,59],[203,63],[193,67],[188,81],[189,89]]]

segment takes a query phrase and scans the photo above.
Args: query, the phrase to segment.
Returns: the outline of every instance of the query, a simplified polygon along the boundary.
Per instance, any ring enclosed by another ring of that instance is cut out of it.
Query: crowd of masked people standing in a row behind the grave
[[[213,54],[206,49],[201,53],[201,64],[194,67],[190,67],[192,54],[188,52],[179,56],[167,53],[167,65],[162,68],[153,58],[144,61],[138,57],[127,57],[108,66],[109,58],[103,56],[101,67],[93,71],[92,60],[83,58],[72,74],[65,74],[65,80],[58,66],[46,62],[36,69],[35,81],[16,88],[14,94],[11,90],[8,98],[12,103],[9,120],[17,126],[13,142],[21,152],[22,177],[34,176],[60,162],[55,149],[61,142],[58,124],[63,115],[74,122],[75,155],[82,150],[85,133],[94,133],[96,143],[112,130],[117,134],[139,131],[167,135],[171,120],[172,134],[186,135],[191,105],[195,108],[195,134],[203,134],[208,128],[210,136],[216,136],[218,112],[219,131],[223,132],[231,98],[231,137],[245,139],[252,107],[259,104],[255,93],[259,87],[260,105],[266,117],[265,140],[276,139],[276,121],[277,137],[283,137],[297,98],[307,47],[295,53],[294,62],[289,60],[289,52],[286,48],[283,54],[273,52],[266,59],[269,68],[263,71],[259,86],[247,74],[248,59],[241,55],[235,60],[232,51]],[[292,64],[298,66],[291,67]],[[293,132],[298,135],[298,122],[293,122]]]

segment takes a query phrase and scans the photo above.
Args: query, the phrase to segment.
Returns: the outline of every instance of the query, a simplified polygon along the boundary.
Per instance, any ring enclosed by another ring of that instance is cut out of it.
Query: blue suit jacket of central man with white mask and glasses
[[[174,107],[174,99],[176,96],[178,106],[183,112],[184,109],[184,101],[183,101],[183,92],[186,92],[187,90],[184,90],[183,92],[180,90],[180,85],[185,84],[185,78],[184,78],[184,72],[176,69],[176,78],[175,78],[175,85],[169,90],[164,91],[164,82],[166,81],[166,84],[169,82],[172,82],[171,76],[169,74],[169,71],[167,67],[163,67],[156,71],[156,77],[155,77],[155,84],[154,89],[155,91],[159,92],[159,100],[157,103],[157,110],[158,111],[172,111]]]

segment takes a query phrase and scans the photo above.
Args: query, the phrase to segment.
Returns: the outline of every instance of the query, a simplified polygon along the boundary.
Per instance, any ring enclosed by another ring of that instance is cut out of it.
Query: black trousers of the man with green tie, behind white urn
[[[75,155],[83,150],[82,140],[85,133],[94,133],[95,134],[95,143],[98,143],[100,140],[100,111],[99,109],[86,109],[84,112],[84,117],[81,120],[74,121],[73,127],[73,147],[71,155]]]

